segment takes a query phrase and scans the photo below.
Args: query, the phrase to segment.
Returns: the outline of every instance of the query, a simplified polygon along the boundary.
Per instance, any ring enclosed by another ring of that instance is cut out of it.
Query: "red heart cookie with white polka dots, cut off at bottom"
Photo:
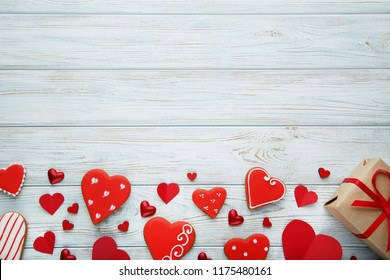
[[[224,251],[229,260],[265,260],[269,246],[267,236],[256,233],[247,239],[230,239],[226,242]]]

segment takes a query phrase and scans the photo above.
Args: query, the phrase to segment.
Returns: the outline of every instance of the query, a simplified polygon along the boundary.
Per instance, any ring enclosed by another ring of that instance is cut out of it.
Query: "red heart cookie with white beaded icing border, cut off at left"
[[[11,164],[7,169],[0,169],[0,190],[17,196],[23,186],[26,169],[21,164]]]

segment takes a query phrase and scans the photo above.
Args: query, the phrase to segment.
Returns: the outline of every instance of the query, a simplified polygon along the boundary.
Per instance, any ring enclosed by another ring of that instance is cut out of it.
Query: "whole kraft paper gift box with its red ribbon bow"
[[[363,160],[324,207],[381,258],[390,259],[390,167],[383,160]]]

